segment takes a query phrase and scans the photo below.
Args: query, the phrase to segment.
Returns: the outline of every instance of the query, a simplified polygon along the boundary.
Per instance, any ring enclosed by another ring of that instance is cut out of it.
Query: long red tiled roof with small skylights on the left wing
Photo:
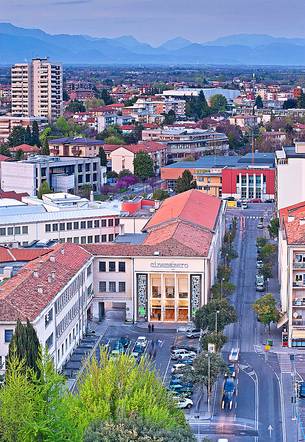
[[[50,256],[55,258],[54,262]],[[0,319],[33,321],[90,258],[90,253],[81,246],[66,243],[58,244],[53,251],[25,265],[0,286]],[[33,275],[34,270],[38,277]],[[52,271],[55,278],[49,282]]]

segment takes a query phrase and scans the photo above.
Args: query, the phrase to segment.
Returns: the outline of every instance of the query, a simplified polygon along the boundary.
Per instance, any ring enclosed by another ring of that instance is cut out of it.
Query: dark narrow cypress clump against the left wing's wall
[[[15,332],[9,345],[8,370],[10,370],[10,362],[15,357],[19,361],[24,361],[26,369],[32,369],[39,376],[39,340],[29,320],[25,325],[19,319],[16,323]]]

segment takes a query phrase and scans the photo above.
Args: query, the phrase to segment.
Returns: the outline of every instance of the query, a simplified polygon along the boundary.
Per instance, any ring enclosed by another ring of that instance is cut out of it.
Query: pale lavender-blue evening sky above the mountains
[[[153,45],[239,33],[305,37],[304,0],[0,0],[0,21],[51,34],[133,35]]]

